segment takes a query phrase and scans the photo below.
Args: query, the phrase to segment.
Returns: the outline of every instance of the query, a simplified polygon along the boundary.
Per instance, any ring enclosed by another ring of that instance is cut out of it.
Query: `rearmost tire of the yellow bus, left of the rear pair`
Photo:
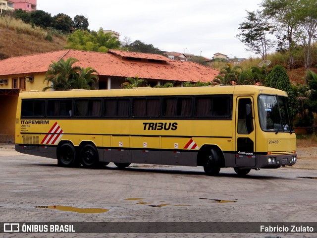
[[[61,167],[74,167],[77,164],[77,153],[71,143],[64,143],[57,148],[57,165]]]

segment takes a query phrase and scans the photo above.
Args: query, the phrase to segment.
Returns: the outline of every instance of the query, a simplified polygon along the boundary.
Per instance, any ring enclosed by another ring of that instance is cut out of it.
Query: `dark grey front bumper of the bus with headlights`
[[[257,155],[258,168],[269,169],[281,166],[292,166],[297,161],[297,154],[290,155]]]

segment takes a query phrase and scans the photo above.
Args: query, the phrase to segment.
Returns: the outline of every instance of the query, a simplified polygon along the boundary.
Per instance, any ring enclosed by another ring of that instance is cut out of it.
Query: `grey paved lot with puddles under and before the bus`
[[[217,177],[208,177],[201,167],[132,164],[119,170],[110,163],[97,170],[68,169],[57,167],[53,159],[13,150],[1,152],[3,148],[0,149],[0,222],[317,222],[317,170],[280,168],[251,171],[248,176],[239,177],[227,168],[221,169]],[[96,211],[100,213],[91,213]],[[47,237],[265,237],[264,234],[150,235],[48,234]],[[277,235],[314,237],[314,234]]]

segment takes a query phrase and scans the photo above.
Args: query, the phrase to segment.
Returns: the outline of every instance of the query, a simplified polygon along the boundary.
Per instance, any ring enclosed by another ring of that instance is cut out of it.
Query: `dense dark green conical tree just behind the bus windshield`
[[[290,116],[294,118],[298,112],[298,101],[285,68],[275,65],[264,80],[264,86],[285,91],[288,95]]]

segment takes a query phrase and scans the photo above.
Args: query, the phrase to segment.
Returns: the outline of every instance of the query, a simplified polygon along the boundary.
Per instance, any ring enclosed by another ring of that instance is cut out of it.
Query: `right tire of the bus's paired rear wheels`
[[[92,169],[99,166],[99,155],[94,145],[85,145],[80,150],[80,159],[85,168]]]

